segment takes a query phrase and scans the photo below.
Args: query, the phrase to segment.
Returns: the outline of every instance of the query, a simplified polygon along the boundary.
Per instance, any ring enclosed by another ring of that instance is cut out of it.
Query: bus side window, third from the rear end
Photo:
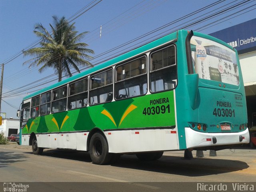
[[[109,69],[90,78],[90,105],[111,102],[113,99],[113,70]]]

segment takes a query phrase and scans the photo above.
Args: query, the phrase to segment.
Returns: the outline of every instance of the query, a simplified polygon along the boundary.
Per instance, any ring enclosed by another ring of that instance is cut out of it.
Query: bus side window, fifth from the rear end
[[[52,91],[52,113],[66,111],[67,109],[67,86]]]

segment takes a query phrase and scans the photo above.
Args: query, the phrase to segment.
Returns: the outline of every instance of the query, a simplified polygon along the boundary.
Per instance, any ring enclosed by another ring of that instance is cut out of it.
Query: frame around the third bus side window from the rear
[[[106,71],[108,71],[108,70],[112,70],[112,83],[92,89],[92,77],[95,76],[95,75],[98,75],[98,74],[100,74],[100,73],[106,72]],[[100,71],[98,71],[98,72],[96,72],[96,73],[90,74],[90,78],[89,78],[89,83],[88,83],[88,84],[89,84],[89,90],[88,90],[88,105],[89,105],[89,106],[96,106],[96,105],[100,105],[100,104],[105,104],[105,103],[112,102],[114,96],[112,97],[112,100],[111,100],[111,101],[102,102],[102,103],[96,103],[96,104],[91,104],[91,103],[90,103],[90,100],[91,100],[90,96],[91,96],[91,92],[92,92],[92,91],[94,91],[94,90],[99,90],[99,89],[101,89],[101,88],[105,88],[105,87],[108,87],[108,86],[111,86],[111,87],[112,87],[112,94],[114,94],[114,87],[113,87],[113,85],[114,85],[114,69],[113,69],[113,66],[110,66],[110,67],[108,67],[108,68],[105,68],[105,69],[103,69],[103,70],[100,70]],[[100,96],[100,94],[99,94],[98,96]],[[97,96],[97,99],[98,99],[98,96]]]

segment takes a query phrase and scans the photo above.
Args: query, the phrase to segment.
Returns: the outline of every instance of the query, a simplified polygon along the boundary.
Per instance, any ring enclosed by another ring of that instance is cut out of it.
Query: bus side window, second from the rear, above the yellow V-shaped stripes
[[[147,93],[147,63],[143,56],[116,67],[116,100],[144,95]]]

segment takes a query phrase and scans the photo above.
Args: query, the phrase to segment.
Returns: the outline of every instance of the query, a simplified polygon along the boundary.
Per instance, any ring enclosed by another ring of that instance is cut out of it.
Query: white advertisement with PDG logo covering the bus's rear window
[[[239,85],[236,52],[197,36],[191,38],[190,44],[194,69],[200,78]]]

